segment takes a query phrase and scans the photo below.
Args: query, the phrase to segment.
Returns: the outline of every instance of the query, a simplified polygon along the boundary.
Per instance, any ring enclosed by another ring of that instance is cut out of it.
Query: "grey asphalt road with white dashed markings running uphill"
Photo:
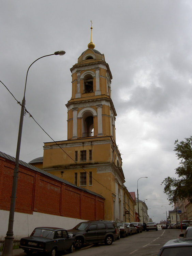
[[[157,256],[160,248],[171,239],[178,238],[181,233],[180,229],[164,229],[158,231],[144,231],[129,237],[121,238],[112,245],[85,245],[80,250],[74,250],[74,256]],[[60,253],[58,256],[68,255],[69,253]],[[40,254],[33,253],[33,256]],[[13,256],[26,256],[22,249],[13,250]]]

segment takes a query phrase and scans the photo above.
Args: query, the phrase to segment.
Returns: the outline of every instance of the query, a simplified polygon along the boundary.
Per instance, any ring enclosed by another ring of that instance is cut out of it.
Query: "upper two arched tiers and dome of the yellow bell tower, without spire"
[[[68,140],[112,136],[116,111],[111,99],[112,74],[104,54],[87,49],[71,68],[72,97],[68,108]]]

